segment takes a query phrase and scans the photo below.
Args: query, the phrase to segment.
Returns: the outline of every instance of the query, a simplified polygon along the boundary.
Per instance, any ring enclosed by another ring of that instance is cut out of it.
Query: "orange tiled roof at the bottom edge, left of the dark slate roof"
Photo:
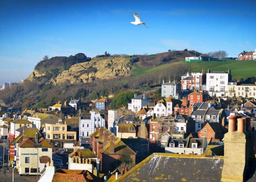
[[[102,182],[88,170],[60,169],[52,177],[52,182]]]

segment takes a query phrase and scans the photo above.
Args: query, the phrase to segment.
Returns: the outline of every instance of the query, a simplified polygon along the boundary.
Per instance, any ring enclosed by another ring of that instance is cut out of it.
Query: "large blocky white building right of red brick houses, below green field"
[[[210,96],[226,97],[229,74],[227,72],[211,72],[206,74],[206,90]]]

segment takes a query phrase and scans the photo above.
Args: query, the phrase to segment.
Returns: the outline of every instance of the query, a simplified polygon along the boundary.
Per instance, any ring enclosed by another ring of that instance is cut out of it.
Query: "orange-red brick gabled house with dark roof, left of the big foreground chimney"
[[[224,134],[227,133],[227,128],[218,122],[207,123],[201,130],[198,131],[198,137],[206,137],[207,143],[221,142]]]

